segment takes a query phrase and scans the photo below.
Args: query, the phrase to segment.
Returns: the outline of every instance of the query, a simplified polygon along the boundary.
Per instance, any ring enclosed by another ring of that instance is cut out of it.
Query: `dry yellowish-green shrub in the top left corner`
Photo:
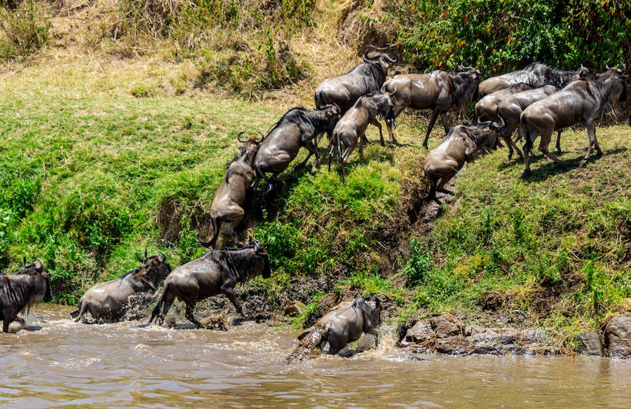
[[[39,50],[48,43],[51,25],[39,1],[22,1],[15,10],[1,6],[0,29],[4,38],[0,38],[0,57],[8,60]]]

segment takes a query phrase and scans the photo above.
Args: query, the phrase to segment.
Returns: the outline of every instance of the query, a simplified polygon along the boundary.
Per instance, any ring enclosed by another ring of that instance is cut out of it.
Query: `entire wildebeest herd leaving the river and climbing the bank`
[[[201,241],[204,247],[215,247],[222,223],[228,223],[231,242],[236,243],[236,228],[245,218],[257,197],[260,181],[267,188],[260,193],[266,203],[275,190],[278,176],[297,157],[299,149],[308,151],[306,159],[315,155],[311,171],[320,162],[318,137],[327,135],[329,168],[332,156],[337,153],[341,176],[346,176],[345,164],[359,144],[367,142],[365,131],[369,124],[379,128],[381,145],[385,145],[379,118],[384,118],[389,142],[397,144],[392,127],[395,119],[407,107],[430,110],[428,130],[423,140],[427,147],[430,132],[440,115],[445,127],[445,139],[427,155],[424,169],[429,181],[428,199],[435,200],[436,192],[447,192],[445,183],[461,169],[465,162],[480,153],[501,146],[499,138],[508,147],[509,160],[513,151],[524,158],[524,173],[530,172],[530,155],[536,137],[541,136],[539,150],[551,160],[559,159],[548,151],[552,133],[557,131],[557,151],[563,128],[585,123],[589,143],[581,166],[590,158],[592,148],[601,153],[595,134],[595,119],[606,110],[613,109],[626,98],[626,67],[606,66],[599,74],[579,67],[576,71],[561,71],[536,62],[524,69],[494,76],[480,82],[482,73],[464,62],[455,71],[437,69],[426,74],[401,74],[386,81],[388,67],[398,58],[385,53],[365,53],[363,61],[346,74],[329,78],[315,90],[315,109],[295,107],[287,111],[271,126],[262,139],[242,139],[240,156],[230,163],[226,176],[215,191],[210,208],[212,237]],[[475,123],[455,125],[449,130],[447,113],[456,111],[466,117],[468,106],[475,103]],[[513,139],[513,132],[522,125],[525,144],[523,154]],[[439,202],[440,203],[440,202]],[[90,312],[95,321],[117,321],[125,318],[130,307],[153,300],[158,286],[163,291],[153,312],[152,321],[163,324],[170,306],[179,299],[186,304],[186,319],[196,326],[194,317],[198,300],[224,293],[236,310],[245,316],[234,287],[238,283],[262,275],[271,276],[269,254],[258,240],[248,241],[239,248],[211,249],[200,258],[171,270],[166,257],[161,255],[140,258],[142,265],[125,272],[118,279],[97,284],[86,291],[79,308],[72,312],[76,321],[85,319]],[[27,264],[13,275],[0,275],[0,319],[3,331],[8,332],[11,321],[21,318],[39,300],[50,300],[50,278],[43,262]],[[288,359],[292,361],[308,355],[316,347],[329,342],[331,354],[339,352],[348,342],[357,340],[362,333],[376,335],[383,300],[378,297],[358,297],[348,305],[325,314],[318,322],[300,335],[298,346]]]

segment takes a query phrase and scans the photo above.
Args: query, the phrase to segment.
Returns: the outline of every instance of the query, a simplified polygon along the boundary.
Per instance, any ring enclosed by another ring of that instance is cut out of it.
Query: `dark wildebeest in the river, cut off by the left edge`
[[[0,319],[2,331],[8,332],[12,321],[24,320],[18,317],[20,312],[29,313],[31,307],[39,301],[46,303],[52,298],[50,292],[50,276],[44,270],[43,262],[38,259],[24,265],[11,275],[0,275]]]

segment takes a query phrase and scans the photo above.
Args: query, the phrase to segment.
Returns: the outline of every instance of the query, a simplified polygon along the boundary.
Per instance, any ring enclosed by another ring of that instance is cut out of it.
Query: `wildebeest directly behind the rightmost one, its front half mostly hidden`
[[[512,136],[513,132],[517,125],[520,125],[520,116],[524,109],[530,104],[537,102],[539,99],[543,99],[548,97],[548,95],[552,95],[557,92],[559,88],[554,85],[543,85],[543,87],[535,88],[534,90],[527,90],[523,92],[518,92],[514,95],[509,95],[502,102],[500,102],[497,106],[497,114],[501,116],[504,120],[504,127],[500,130],[501,137],[508,145],[508,160],[513,158],[513,148],[517,151],[517,154],[520,155],[520,158],[524,158],[522,155],[522,151],[517,147],[515,142],[519,139],[516,138],[513,141]],[[557,134],[557,151],[561,153],[560,146],[561,139],[561,131]]]

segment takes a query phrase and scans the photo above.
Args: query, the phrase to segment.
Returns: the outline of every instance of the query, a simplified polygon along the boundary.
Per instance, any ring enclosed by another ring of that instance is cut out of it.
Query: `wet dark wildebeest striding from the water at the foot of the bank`
[[[234,293],[234,286],[244,284],[257,275],[263,275],[263,278],[271,276],[267,250],[258,240],[239,249],[224,247],[210,250],[200,258],[180,265],[164,280],[162,296],[149,322],[157,317],[158,324],[162,324],[171,304],[178,298],[186,303],[186,319],[201,326],[193,315],[195,303],[219,293],[226,294],[237,311],[245,317],[243,306]]]

